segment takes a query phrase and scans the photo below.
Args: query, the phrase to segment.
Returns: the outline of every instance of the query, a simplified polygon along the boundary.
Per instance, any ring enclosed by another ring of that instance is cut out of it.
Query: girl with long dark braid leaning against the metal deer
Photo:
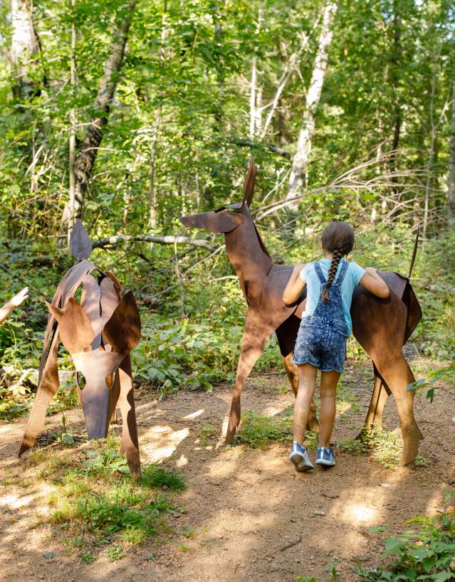
[[[323,231],[322,243],[325,258],[307,265],[296,265],[283,293],[283,302],[290,305],[298,300],[307,286],[305,311],[294,349],[298,393],[289,455],[299,472],[314,469],[302,443],[318,369],[321,372],[320,432],[316,463],[326,467],[335,465],[330,436],[335,422],[336,388],[344,371],[346,342],[352,330],[352,292],[360,284],[377,297],[389,297],[389,287],[377,274],[377,269],[363,269],[357,263],[345,260],[345,255],[354,247],[354,231],[350,225],[342,221],[330,223]]]

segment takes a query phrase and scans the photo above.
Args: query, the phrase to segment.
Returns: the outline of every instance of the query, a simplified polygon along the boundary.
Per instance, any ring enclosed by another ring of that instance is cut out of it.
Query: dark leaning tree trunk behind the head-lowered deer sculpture
[[[109,107],[113,102],[115,88],[117,87],[118,73],[122,68],[128,31],[130,30],[132,15],[135,9],[135,1],[130,2],[125,11],[125,16],[113,36],[110,47],[110,55],[104,65],[103,78],[100,81],[98,95],[95,100],[95,110],[98,115],[88,125],[83,137],[80,152],[74,162],[75,173],[75,199],[74,218],[80,218],[83,210],[84,196],[88,188],[88,181],[95,164],[98,147],[103,139],[103,127],[108,122]],[[70,216],[69,204],[63,211],[62,222],[68,222]]]

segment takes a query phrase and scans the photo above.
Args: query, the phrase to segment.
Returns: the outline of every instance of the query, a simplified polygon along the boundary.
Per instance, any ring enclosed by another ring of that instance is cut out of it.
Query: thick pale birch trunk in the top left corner
[[[35,93],[35,83],[28,73],[34,55],[40,51],[28,1],[11,0],[11,26],[11,62],[16,75],[13,95],[16,98],[27,98]]]

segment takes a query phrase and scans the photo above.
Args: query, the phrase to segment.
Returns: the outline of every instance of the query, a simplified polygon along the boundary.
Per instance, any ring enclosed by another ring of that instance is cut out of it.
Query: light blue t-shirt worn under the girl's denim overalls
[[[341,259],[338,265],[337,274],[333,282],[338,279],[342,264],[345,263],[345,259]],[[320,270],[322,270],[325,280],[327,280],[328,272],[330,268],[330,259],[321,259],[319,261]],[[350,316],[352,293],[354,288],[359,284],[360,279],[365,275],[365,269],[354,263],[353,261],[347,261],[347,271],[345,278],[342,280],[341,284],[341,300],[343,313],[345,315],[346,325],[347,325],[347,335],[351,334],[352,331],[352,321]],[[316,273],[313,263],[308,263],[300,271],[300,279],[306,283],[307,295],[306,295],[306,305],[305,311],[302,317],[307,317],[315,312],[316,306],[320,298],[320,280],[318,273]],[[332,284],[333,285],[333,284]]]

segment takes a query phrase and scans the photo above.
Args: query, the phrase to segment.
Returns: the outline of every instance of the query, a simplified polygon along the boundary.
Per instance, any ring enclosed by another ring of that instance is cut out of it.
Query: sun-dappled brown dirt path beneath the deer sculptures
[[[414,369],[424,369],[424,359],[417,360]],[[334,443],[352,443],[371,388],[370,364],[348,361]],[[333,469],[300,474],[288,461],[288,444],[262,449],[222,444],[231,386],[217,386],[212,393],[182,390],[162,401],[150,394],[145,388],[136,391],[142,463],[177,468],[187,489],[174,495],[182,509],[166,517],[169,527],[142,544],[124,546],[117,561],[101,549],[98,559],[86,564],[64,543],[65,530],[47,519],[53,485],[42,470],[58,448],[44,443],[38,445],[40,455],[19,460],[26,420],[0,424],[3,580],[295,582],[305,574],[328,581],[328,569],[335,565],[338,580],[353,582],[358,578],[352,568],[378,563],[386,535],[409,529],[405,522],[416,515],[436,515],[444,494],[455,492],[450,485],[455,479],[454,386],[436,391],[433,403],[424,394],[416,397],[423,466],[386,468],[380,454],[346,445],[336,449]],[[284,374],[261,374],[249,379],[242,410],[279,417],[292,402]],[[80,410],[65,414],[68,423],[83,426]],[[385,427],[397,426],[390,398]],[[58,428],[61,414],[46,423],[48,432]],[[63,454],[83,446],[75,443]],[[369,529],[382,524],[388,534]]]

